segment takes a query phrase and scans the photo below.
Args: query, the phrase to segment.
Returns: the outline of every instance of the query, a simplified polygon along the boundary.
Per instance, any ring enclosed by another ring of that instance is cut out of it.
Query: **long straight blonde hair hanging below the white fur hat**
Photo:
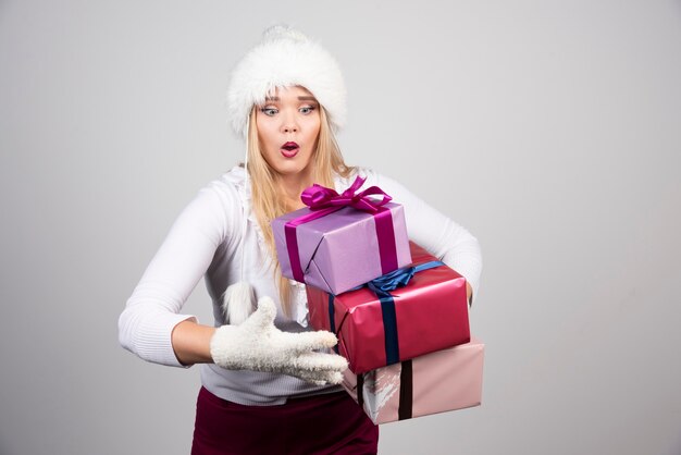
[[[354,168],[345,164],[329,115],[321,106],[319,115],[320,131],[317,138],[317,147],[312,153],[312,176],[314,183],[333,188],[334,174],[348,177]],[[250,176],[252,210],[274,261],[272,272],[275,278],[278,278],[282,308],[286,315],[290,315],[290,283],[288,279],[282,276],[270,221],[292,211],[293,207],[286,206],[276,186],[276,172],[268,164],[260,150],[258,127],[256,125],[256,107],[250,111],[247,134],[248,174]]]

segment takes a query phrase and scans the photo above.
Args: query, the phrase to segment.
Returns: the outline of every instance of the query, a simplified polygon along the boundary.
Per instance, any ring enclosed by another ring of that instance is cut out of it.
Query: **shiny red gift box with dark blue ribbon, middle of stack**
[[[412,266],[437,259],[410,243]],[[338,337],[337,352],[355,373],[468,343],[466,279],[445,265],[419,271],[389,291],[368,287],[336,296],[307,286],[310,324]]]

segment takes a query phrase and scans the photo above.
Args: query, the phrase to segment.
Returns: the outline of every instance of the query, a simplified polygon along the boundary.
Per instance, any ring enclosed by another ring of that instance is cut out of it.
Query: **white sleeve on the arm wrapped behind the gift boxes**
[[[473,290],[473,296],[476,296],[482,272],[482,254],[478,239],[398,182],[371,170],[361,170],[360,173],[368,177],[364,186],[380,186],[396,202],[404,205],[409,238],[466,278]]]

